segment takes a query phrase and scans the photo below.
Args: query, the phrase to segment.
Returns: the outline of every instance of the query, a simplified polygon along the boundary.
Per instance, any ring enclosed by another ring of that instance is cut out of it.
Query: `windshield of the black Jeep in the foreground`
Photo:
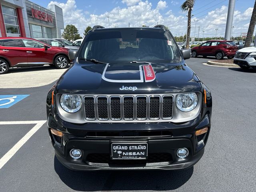
[[[178,47],[169,32],[136,29],[89,34],[82,44],[79,58],[108,63],[181,61]]]

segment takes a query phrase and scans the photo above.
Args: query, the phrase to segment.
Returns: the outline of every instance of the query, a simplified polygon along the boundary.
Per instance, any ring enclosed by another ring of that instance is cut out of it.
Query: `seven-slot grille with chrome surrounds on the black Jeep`
[[[88,121],[169,120],[173,114],[172,95],[85,96]]]

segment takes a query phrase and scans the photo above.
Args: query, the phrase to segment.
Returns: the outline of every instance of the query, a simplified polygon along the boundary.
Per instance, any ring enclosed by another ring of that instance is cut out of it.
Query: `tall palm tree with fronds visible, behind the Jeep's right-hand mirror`
[[[196,0],[186,0],[181,6],[180,9],[182,11],[188,11],[188,31],[187,31],[187,40],[186,40],[186,49],[189,48],[190,41],[190,29],[191,29],[191,12],[194,7]]]

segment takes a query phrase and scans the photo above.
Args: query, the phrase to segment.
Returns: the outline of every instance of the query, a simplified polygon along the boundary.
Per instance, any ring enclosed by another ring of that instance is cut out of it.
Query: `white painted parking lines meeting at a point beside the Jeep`
[[[14,125],[14,124],[36,124],[24,137],[22,137],[1,159],[0,169],[14,156],[14,154],[29,140],[29,138],[38,131],[40,127],[46,122],[44,121],[2,121],[0,125]]]

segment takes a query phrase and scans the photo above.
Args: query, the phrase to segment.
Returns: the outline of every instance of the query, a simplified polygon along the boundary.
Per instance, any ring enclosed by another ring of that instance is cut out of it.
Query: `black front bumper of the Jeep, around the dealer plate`
[[[186,169],[198,162],[210,132],[211,108],[202,108],[200,115],[184,124],[159,123],[86,123],[72,124],[58,117],[56,110],[48,111],[48,131],[58,160],[71,170],[123,169]],[[199,138],[196,130],[208,127]],[[57,142],[50,128],[63,132]],[[147,142],[147,160],[111,160],[110,143],[115,141]],[[187,148],[186,158],[178,158],[178,148]],[[72,159],[70,150],[80,149],[82,157]]]

